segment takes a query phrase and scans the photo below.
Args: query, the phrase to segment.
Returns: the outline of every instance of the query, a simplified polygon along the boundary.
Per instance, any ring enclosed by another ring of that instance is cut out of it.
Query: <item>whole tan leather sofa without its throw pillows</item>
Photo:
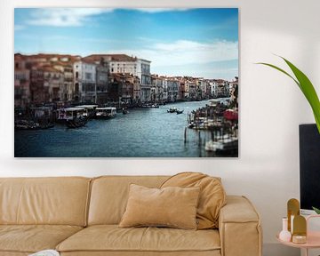
[[[260,217],[227,196],[219,229],[119,228],[131,183],[158,188],[166,176],[0,179],[0,256],[55,249],[60,255],[260,256]]]

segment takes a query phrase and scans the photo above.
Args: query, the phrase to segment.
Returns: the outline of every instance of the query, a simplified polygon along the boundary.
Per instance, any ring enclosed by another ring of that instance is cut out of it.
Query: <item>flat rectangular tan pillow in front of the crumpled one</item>
[[[131,184],[119,227],[196,229],[200,188],[146,188]]]

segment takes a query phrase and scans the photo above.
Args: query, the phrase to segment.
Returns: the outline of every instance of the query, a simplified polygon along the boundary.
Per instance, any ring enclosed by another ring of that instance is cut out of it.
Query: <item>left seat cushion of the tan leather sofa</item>
[[[54,249],[81,229],[63,225],[0,225],[0,254]]]

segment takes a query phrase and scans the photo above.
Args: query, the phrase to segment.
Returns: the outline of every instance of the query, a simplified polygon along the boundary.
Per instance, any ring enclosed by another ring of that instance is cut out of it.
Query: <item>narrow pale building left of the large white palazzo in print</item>
[[[96,64],[79,60],[73,64],[76,102],[97,103]]]

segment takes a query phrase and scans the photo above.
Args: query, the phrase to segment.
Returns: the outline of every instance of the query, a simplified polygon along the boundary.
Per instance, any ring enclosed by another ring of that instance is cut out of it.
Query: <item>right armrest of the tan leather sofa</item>
[[[220,210],[219,232],[222,256],[261,256],[260,215],[244,196],[227,196]]]

